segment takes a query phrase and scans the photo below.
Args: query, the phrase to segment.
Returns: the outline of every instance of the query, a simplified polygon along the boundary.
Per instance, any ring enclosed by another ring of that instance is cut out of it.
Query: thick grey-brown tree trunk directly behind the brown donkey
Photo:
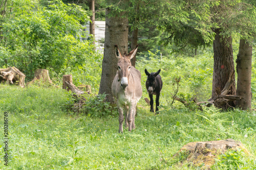
[[[110,12],[111,9],[106,10],[105,43],[99,94],[108,94],[106,96],[106,100],[108,102],[113,103],[114,100],[111,91],[111,86],[116,75],[118,61],[114,53],[114,45],[118,45],[121,53],[127,54],[128,18],[121,17],[121,13],[118,16],[109,17],[108,14]]]

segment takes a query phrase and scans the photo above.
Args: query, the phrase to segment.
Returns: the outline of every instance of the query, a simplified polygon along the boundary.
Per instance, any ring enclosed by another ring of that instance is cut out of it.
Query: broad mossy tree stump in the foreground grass
[[[228,149],[244,149],[240,141],[233,139],[190,142],[185,144],[179,152],[174,155],[181,162],[187,162],[193,166],[200,166],[201,169],[210,169],[215,163],[217,155],[221,155]]]

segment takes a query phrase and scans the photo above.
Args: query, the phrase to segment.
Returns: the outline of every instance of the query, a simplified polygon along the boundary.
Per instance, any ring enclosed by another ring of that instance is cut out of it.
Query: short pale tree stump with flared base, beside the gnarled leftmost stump
[[[41,83],[44,84],[52,84],[52,81],[49,77],[49,71],[47,69],[35,70],[34,79],[31,82],[28,82],[27,86],[35,83],[36,80],[39,80]]]

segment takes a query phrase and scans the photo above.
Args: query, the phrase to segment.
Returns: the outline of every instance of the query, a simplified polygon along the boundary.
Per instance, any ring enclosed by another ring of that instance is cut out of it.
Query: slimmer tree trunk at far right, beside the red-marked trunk
[[[252,46],[244,39],[240,39],[237,62],[238,85],[237,95],[243,97],[237,101],[237,106],[242,110],[251,108],[251,57]]]

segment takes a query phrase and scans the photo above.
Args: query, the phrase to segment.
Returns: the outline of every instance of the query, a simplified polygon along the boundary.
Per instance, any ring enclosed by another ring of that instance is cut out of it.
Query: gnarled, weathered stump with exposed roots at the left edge
[[[25,87],[25,75],[16,67],[0,68],[0,82]]]

